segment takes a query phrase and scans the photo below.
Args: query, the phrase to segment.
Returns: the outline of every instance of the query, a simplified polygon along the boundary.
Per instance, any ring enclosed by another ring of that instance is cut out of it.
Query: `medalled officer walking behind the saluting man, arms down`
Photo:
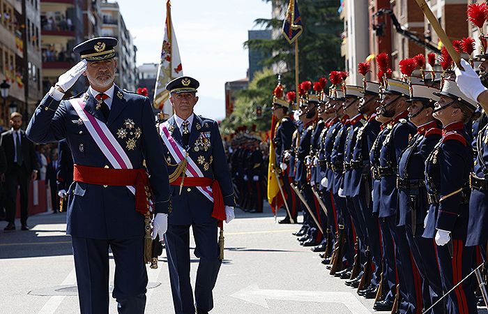
[[[195,255],[200,258],[195,283],[196,310],[208,313],[213,308],[212,290],[222,264],[218,225],[222,230],[222,220],[229,223],[234,218],[235,206],[218,124],[194,113],[198,87],[199,82],[192,77],[177,77],[166,86],[175,114],[159,127],[163,142],[169,137],[174,140],[174,146],[165,142],[162,159],[169,170],[172,210],[169,215],[158,214],[154,218],[160,238],[167,225],[164,237],[175,312],[188,314],[195,313],[190,283],[190,226],[197,246]],[[175,158],[170,149],[181,149],[182,160]],[[208,192],[202,192],[210,186],[213,202],[206,196]]]

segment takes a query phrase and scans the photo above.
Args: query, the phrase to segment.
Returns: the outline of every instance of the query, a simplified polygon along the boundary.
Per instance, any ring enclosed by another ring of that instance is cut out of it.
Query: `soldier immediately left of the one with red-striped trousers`
[[[412,84],[410,91],[410,99],[407,100],[409,120],[417,126],[417,133],[411,137],[398,162],[398,225],[405,226],[406,239],[422,277],[422,304],[427,309],[443,294],[434,242],[422,237],[429,209],[424,184],[425,160],[442,135],[439,122],[432,117],[434,103],[439,100],[433,93],[439,89]],[[432,308],[432,313],[445,313],[443,305],[439,302]]]

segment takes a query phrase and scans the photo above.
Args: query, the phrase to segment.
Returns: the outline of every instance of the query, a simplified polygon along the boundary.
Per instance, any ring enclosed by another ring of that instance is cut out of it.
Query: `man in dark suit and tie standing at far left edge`
[[[17,187],[20,186],[20,223],[22,230],[27,227],[27,207],[29,205],[29,179],[37,177],[38,161],[33,143],[25,136],[22,127],[22,114],[10,115],[12,128],[1,135],[1,146],[7,157],[6,172],[6,220],[5,231],[15,230],[15,209],[17,207]]]

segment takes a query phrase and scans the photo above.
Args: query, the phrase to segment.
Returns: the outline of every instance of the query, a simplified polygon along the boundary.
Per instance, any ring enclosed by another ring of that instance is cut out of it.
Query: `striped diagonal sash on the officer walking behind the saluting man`
[[[185,149],[183,149],[183,147],[181,147],[181,145],[174,140],[174,138],[171,136],[171,133],[169,133],[167,126],[167,121],[163,124],[160,124],[160,135],[162,141],[165,142],[165,145],[169,150],[169,154],[173,156],[174,160],[176,160],[176,163],[181,163],[181,161],[186,159],[187,166],[185,174],[187,175],[187,177],[203,178],[204,174],[201,172],[200,168],[197,166],[195,161],[190,158],[190,156],[187,156],[187,152],[185,151]],[[213,193],[210,186],[197,186],[197,189],[201,192],[201,194],[205,195],[208,200],[213,202]]]

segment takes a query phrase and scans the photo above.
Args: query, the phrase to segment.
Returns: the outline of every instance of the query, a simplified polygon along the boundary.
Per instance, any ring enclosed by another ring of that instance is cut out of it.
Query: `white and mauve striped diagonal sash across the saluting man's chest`
[[[109,160],[112,167],[114,167],[114,169],[132,169],[132,163],[130,163],[129,156],[125,154],[125,151],[119,142],[117,142],[112,132],[110,132],[107,125],[96,119],[96,117],[93,117],[84,109],[86,103],[84,103],[83,99],[70,99],[70,103],[73,108],[75,108],[79,118],[82,119],[91,137],[96,142],[103,155]],[[135,194],[134,186],[127,186],[127,188],[132,194]]]

